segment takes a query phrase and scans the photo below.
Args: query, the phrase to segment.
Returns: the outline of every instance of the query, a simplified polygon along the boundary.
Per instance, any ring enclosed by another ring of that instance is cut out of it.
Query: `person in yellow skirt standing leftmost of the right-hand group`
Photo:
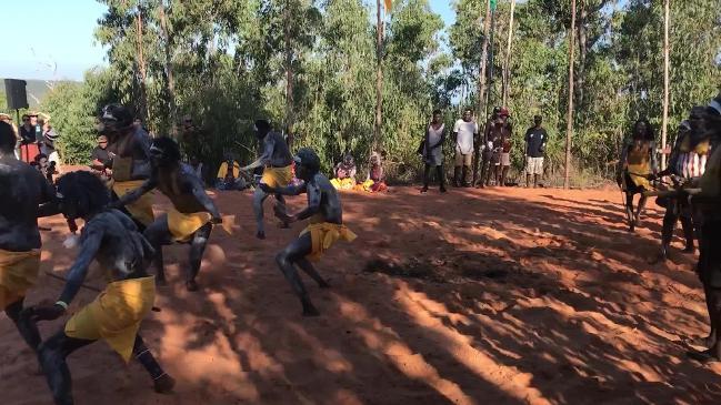
[[[633,232],[645,206],[644,191],[652,189],[650,179],[658,173],[655,160],[655,135],[647,119],[640,119],[633,125],[630,140],[623,144],[617,170],[617,182],[625,193],[625,215],[629,231]],[[633,213],[633,196],[641,194],[639,205]]]

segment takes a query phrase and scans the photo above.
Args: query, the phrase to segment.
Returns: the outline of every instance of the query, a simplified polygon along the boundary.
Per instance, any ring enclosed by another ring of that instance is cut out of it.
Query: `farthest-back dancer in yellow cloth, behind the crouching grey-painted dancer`
[[[288,186],[293,178],[292,163],[293,156],[290,154],[288,143],[283,136],[273,132],[270,129],[270,122],[267,120],[256,121],[256,135],[260,142],[261,155],[242,169],[248,172],[256,168],[264,168],[261,183],[268,185],[270,189],[281,189]],[[256,223],[258,224],[258,232],[256,237],[266,239],[266,227],[263,225],[263,202],[268,198],[261,188],[256,189],[253,194],[253,211],[256,213]],[[281,205],[286,205],[286,200],[281,194],[276,194],[276,200]],[[287,225],[287,223],[284,223]]]

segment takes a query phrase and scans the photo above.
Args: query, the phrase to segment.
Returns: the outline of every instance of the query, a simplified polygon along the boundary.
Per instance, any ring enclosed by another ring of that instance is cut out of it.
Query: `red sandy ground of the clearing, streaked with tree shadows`
[[[707,332],[695,257],[678,252],[668,264],[650,261],[659,211],[629,234],[613,190],[441,196],[395,188],[342,196],[359,240],[319,263],[333,288],[304,279],[321,317],[300,316],[273,261],[301,224],[281,230],[273,221],[268,240],[257,241],[250,194],[224,193],[217,201],[238,215],[240,229],[233,236],[214,231],[199,293],[182,285],[187,247],[166,250],[170,286],[156,303],[162,312],[142,328],[178,379],[176,393],[154,394],[137,363],[123,365],[98,343],[70,356],[76,402],[721,402],[721,365],[688,361],[680,342]],[[164,199],[158,202],[162,211]],[[301,203],[291,201],[294,209]],[[42,271],[63,273],[73,255],[61,245],[64,222],[42,224],[52,226],[43,233]],[[674,247],[682,247],[679,240]],[[379,259],[395,264],[391,272],[422,277],[375,272],[388,267]],[[43,274],[28,301],[54,300],[61,286]],[[70,311],[93,297],[83,291]],[[42,324],[43,336],[63,321]],[[33,355],[4,315],[0,336],[2,404],[50,403]]]

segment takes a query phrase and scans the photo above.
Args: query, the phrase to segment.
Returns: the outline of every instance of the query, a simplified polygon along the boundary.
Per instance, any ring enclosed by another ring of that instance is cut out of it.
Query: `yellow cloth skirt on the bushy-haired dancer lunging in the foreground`
[[[89,341],[102,338],[128,362],[140,322],[152,308],[154,300],[154,276],[109,283],[96,301],[68,321],[66,334]]]

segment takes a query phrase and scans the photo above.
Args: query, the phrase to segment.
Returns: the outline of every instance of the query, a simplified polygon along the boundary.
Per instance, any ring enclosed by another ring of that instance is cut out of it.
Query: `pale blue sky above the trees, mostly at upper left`
[[[4,16],[22,16],[42,10],[46,22],[31,19],[3,19],[4,51],[0,52],[0,78],[41,80],[82,80],[83,72],[107,64],[106,50],[93,32],[106,7],[94,0],[0,0]],[[449,0],[430,0],[447,27],[454,12]]]

